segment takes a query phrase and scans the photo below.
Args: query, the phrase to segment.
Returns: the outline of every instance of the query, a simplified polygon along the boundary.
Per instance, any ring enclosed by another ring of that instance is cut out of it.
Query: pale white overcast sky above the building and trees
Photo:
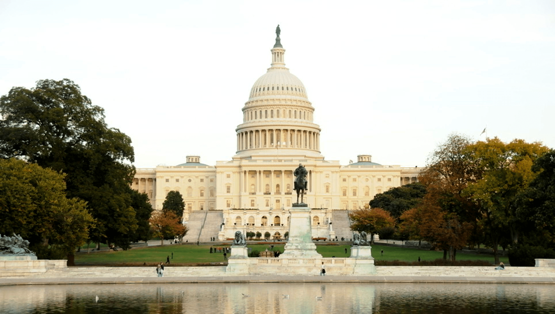
[[[214,165],[235,155],[278,24],[327,160],[421,167],[452,133],[555,148],[551,0],[0,0],[0,95],[68,78],[136,167]]]

